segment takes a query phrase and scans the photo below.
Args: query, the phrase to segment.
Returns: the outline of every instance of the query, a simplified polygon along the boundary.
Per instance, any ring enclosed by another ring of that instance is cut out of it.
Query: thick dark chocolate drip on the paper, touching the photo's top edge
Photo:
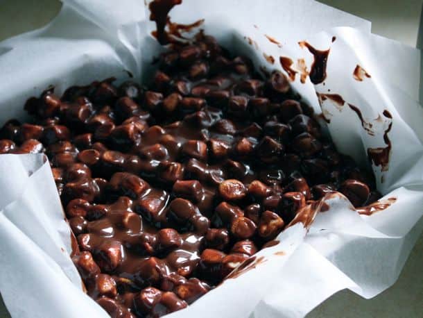
[[[154,21],[157,31],[155,33],[160,44],[168,44],[169,37],[164,28],[169,21],[169,12],[174,6],[181,4],[182,0],[154,0],[150,2],[150,21]]]

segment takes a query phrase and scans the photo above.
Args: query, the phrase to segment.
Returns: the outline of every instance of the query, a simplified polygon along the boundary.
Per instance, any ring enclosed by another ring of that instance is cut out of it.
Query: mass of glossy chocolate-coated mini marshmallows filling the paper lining
[[[186,308],[341,192],[379,199],[282,72],[264,76],[200,33],[162,53],[148,85],[46,90],[10,120],[0,153],[45,153],[87,294],[111,317]]]

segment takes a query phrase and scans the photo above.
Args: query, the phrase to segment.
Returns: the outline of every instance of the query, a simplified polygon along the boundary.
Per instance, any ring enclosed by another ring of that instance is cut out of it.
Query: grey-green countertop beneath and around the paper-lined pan
[[[141,0],[140,0],[141,1]],[[423,0],[321,0],[372,21],[372,31],[415,47]],[[60,10],[58,0],[0,0],[0,40],[39,28]],[[420,42],[423,42],[420,39]],[[366,300],[343,290],[307,317],[423,317],[423,235],[417,240],[397,283]],[[0,269],[1,270],[1,269]],[[0,317],[10,317],[0,299]]]

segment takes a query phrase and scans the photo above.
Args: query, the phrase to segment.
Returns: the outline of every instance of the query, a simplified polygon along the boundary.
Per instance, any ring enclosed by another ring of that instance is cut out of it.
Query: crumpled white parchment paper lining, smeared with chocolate
[[[136,80],[147,78],[162,50],[150,36],[155,26],[148,15],[139,0],[67,0],[45,28],[1,42],[0,123],[24,119],[26,99],[49,85],[60,94],[110,76],[119,83],[126,70]],[[302,317],[338,290],[371,298],[392,285],[423,228],[420,51],[372,35],[369,22],[311,0],[184,0],[171,19],[205,19],[206,33],[268,69],[281,69],[279,56],[304,58],[310,69],[313,57],[301,40],[330,47],[325,84],[301,83],[297,74],[293,88],[317,114],[323,109],[338,149],[361,165],[369,147],[386,147],[390,119],[376,119],[384,110],[392,114],[389,167],[373,170],[384,199],[397,201],[360,216],[345,197],[329,199],[330,209],[317,215],[309,233],[301,224],[288,228],[280,244],[257,254],[264,261],[255,268],[169,317]],[[356,81],[356,65],[371,78]],[[329,90],[345,104],[326,99],[320,106],[316,92]],[[372,124],[372,135],[348,103]],[[12,317],[107,317],[83,293],[68,257],[70,231],[44,156],[0,156],[0,193],[0,291]]]

